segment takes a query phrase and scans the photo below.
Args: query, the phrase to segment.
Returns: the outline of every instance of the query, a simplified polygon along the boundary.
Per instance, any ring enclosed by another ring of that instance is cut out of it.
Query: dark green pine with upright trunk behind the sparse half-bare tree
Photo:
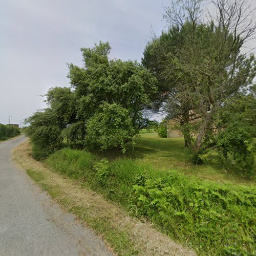
[[[187,93],[191,78],[180,76],[180,72],[175,70],[174,59],[179,56],[190,28],[191,24],[188,23],[182,28],[174,25],[167,32],[162,32],[159,38],[154,38],[147,44],[142,59],[143,65],[151,70],[158,80],[160,95],[156,106],[161,106],[159,101],[162,102],[162,111],[167,114],[167,118],[174,119],[180,124],[185,147],[191,146],[189,124],[199,116],[193,111]]]

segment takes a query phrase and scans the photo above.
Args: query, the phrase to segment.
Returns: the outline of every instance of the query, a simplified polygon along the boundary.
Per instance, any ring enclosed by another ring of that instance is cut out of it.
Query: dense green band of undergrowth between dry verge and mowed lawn
[[[129,158],[100,159],[63,148],[46,163],[78,179],[137,217],[146,217],[174,240],[200,254],[255,254],[253,186],[219,185],[159,171]]]

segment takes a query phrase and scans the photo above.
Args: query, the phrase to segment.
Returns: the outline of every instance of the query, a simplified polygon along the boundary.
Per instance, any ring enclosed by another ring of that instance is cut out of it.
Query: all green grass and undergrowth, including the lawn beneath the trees
[[[103,158],[108,160],[101,161]],[[199,254],[256,252],[253,181],[230,169],[225,171],[227,166],[222,166],[215,153],[204,165],[190,164],[182,138],[142,134],[137,146],[130,146],[124,155],[114,150],[89,153],[63,148],[46,163],[131,214],[147,218],[170,238],[189,244]],[[91,225],[96,230],[109,232],[101,224],[106,220],[95,221]],[[110,242],[116,237],[112,234]],[[125,234],[120,234],[120,239],[125,241]],[[123,245],[119,249],[126,250]]]

